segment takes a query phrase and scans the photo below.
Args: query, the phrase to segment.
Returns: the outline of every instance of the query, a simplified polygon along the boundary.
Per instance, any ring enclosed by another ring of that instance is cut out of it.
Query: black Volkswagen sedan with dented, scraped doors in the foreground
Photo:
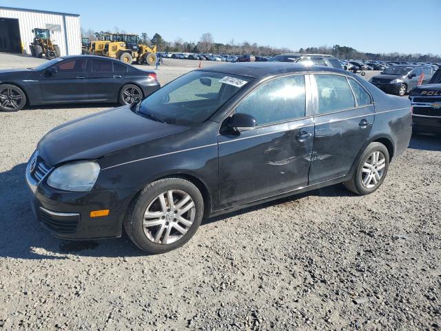
[[[369,194],[410,137],[409,99],[349,72],[225,64],[54,128],[25,176],[34,213],[57,237],[125,228],[161,253],[204,217],[336,183]]]

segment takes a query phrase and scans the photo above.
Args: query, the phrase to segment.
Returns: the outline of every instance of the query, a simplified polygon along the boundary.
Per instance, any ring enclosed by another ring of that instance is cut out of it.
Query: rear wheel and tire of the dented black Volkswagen
[[[389,151],[382,143],[370,143],[356,163],[356,170],[345,187],[360,195],[376,191],[389,169]]]

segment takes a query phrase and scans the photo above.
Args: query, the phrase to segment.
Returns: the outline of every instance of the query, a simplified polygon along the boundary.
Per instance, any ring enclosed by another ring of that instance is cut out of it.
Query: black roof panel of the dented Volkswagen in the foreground
[[[301,63],[291,62],[247,62],[247,63],[226,63],[209,68],[198,69],[209,72],[222,72],[225,74],[236,74],[252,78],[265,77],[270,74],[282,74],[287,72],[344,72],[342,69],[336,69],[326,66],[305,66]]]

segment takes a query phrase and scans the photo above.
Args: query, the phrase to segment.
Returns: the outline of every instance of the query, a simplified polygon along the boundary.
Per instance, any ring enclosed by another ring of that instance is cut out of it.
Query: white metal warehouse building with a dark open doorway
[[[60,47],[61,55],[81,54],[79,14],[46,12],[0,6],[0,52],[30,54],[34,41],[32,29],[51,30],[52,42]]]

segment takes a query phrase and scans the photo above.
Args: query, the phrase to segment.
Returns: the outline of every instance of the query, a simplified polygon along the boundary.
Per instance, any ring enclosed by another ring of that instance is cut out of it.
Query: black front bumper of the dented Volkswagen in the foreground
[[[50,172],[48,173],[50,174]],[[46,176],[47,177],[47,176]],[[55,237],[101,239],[121,237],[123,217],[136,194],[132,188],[66,192],[51,188],[46,177],[37,182],[26,167],[32,212],[37,221]],[[92,210],[109,209],[105,217],[90,217]]]

